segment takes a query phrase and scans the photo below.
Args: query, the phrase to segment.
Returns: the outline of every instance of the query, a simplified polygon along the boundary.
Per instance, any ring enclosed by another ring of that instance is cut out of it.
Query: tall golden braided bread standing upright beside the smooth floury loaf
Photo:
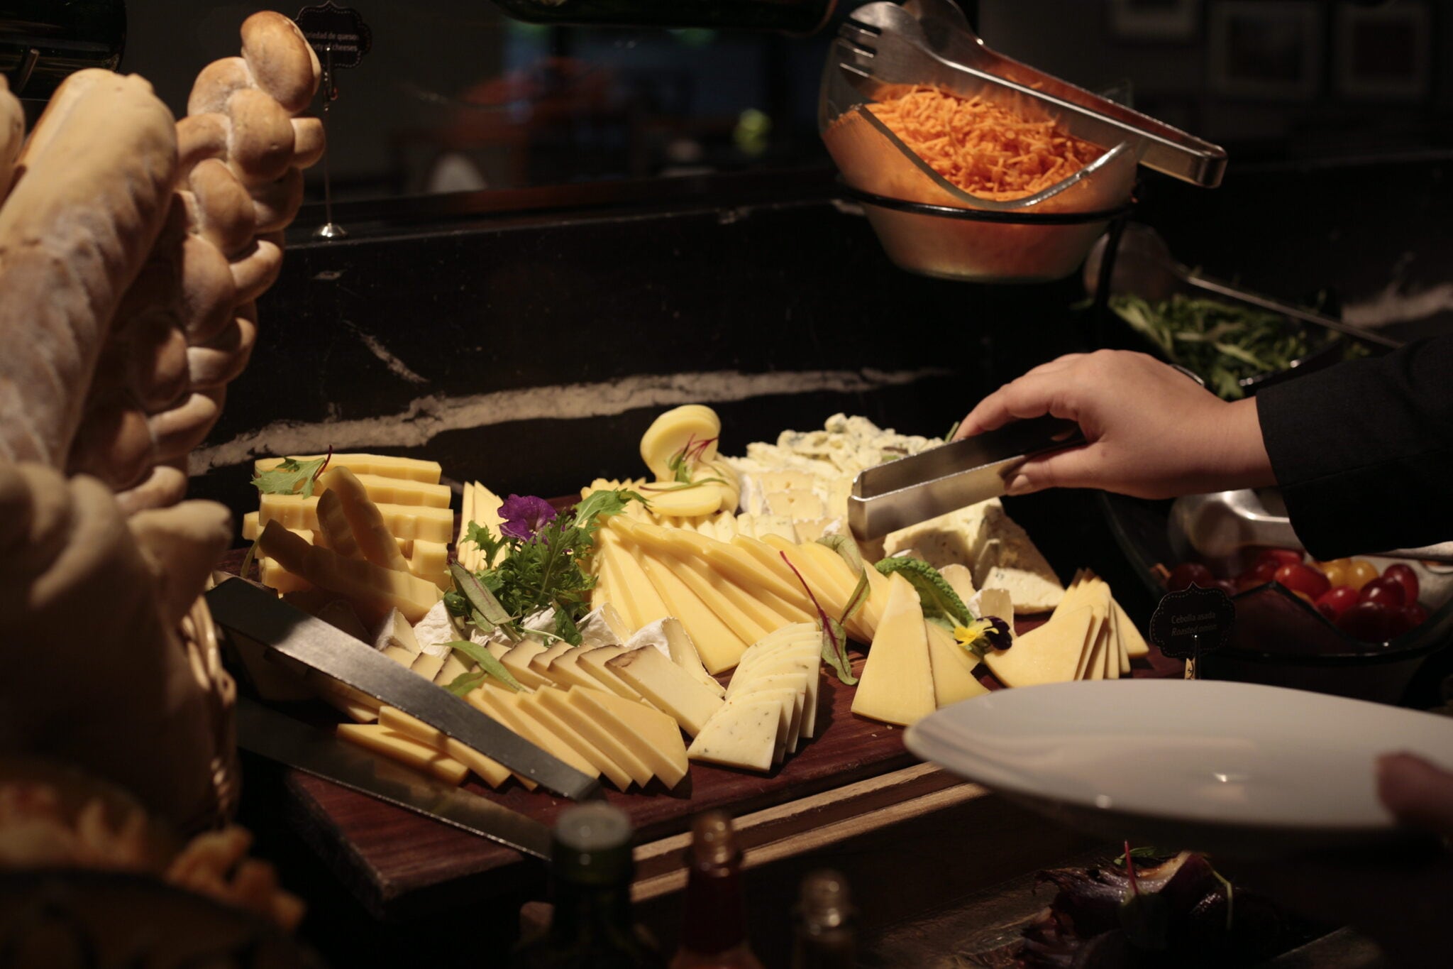
[[[128,511],[186,491],[186,456],[216,423],[257,336],[254,301],[282,269],[282,230],[323,123],[295,118],[321,70],[288,17],[262,12],[241,57],[202,70],[177,123],[177,192],[166,228],[116,315],[110,366],[90,388],[67,459]]]

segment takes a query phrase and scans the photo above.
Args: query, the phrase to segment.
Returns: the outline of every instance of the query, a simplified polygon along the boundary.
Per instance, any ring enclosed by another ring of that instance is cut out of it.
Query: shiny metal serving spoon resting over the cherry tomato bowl
[[[1167,527],[1171,551],[1181,559],[1191,554],[1229,559],[1248,546],[1302,548],[1292,520],[1267,510],[1261,497],[1250,488],[1177,498],[1171,504]],[[1453,542],[1369,555],[1453,562]]]

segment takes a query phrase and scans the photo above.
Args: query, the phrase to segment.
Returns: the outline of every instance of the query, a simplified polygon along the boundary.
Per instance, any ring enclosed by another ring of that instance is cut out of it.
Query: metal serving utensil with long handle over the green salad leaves
[[[1085,260],[1082,277],[1085,289],[1090,295],[1094,295],[1100,288],[1100,266],[1104,260],[1104,250],[1107,244],[1109,237],[1098,240],[1094,244],[1094,248],[1090,250],[1090,257]],[[1258,309],[1279,312],[1283,317],[1300,320],[1302,323],[1311,323],[1312,325],[1322,327],[1325,330],[1335,330],[1337,333],[1357,337],[1364,343],[1382,347],[1402,346],[1401,340],[1385,337],[1380,333],[1373,333],[1372,330],[1364,330],[1363,327],[1356,327],[1350,323],[1343,323],[1341,320],[1332,320],[1331,317],[1325,317],[1319,312],[1302,309],[1299,307],[1293,307],[1292,304],[1280,302],[1277,299],[1251,292],[1250,289],[1242,289],[1239,286],[1232,286],[1231,283],[1223,283],[1219,279],[1203,276],[1200,270],[1189,269],[1187,266],[1175,261],[1175,257],[1171,256],[1171,250],[1165,244],[1165,240],[1162,240],[1159,232],[1149,225],[1139,225],[1135,222],[1126,225],[1125,234],[1120,238],[1120,246],[1114,253],[1114,267],[1110,272],[1110,292],[1135,293],[1151,302],[1159,302],[1162,299],[1170,299],[1170,296],[1183,286],[1225,296],[1237,302],[1244,302],[1250,307],[1257,307]]]

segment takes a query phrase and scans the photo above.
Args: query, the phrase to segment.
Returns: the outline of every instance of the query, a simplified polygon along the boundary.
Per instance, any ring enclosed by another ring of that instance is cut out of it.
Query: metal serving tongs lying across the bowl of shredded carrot
[[[936,84],[962,97],[1020,99],[1078,138],[1129,144],[1141,164],[1175,179],[1215,187],[1226,169],[1221,147],[989,49],[949,0],[857,7],[834,54],[841,76],[869,97],[885,84]]]

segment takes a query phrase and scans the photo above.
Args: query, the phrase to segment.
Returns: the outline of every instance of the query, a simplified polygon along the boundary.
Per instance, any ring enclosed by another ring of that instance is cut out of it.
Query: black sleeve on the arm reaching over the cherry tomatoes
[[[1267,386],[1257,413],[1314,556],[1453,539],[1453,336]]]

